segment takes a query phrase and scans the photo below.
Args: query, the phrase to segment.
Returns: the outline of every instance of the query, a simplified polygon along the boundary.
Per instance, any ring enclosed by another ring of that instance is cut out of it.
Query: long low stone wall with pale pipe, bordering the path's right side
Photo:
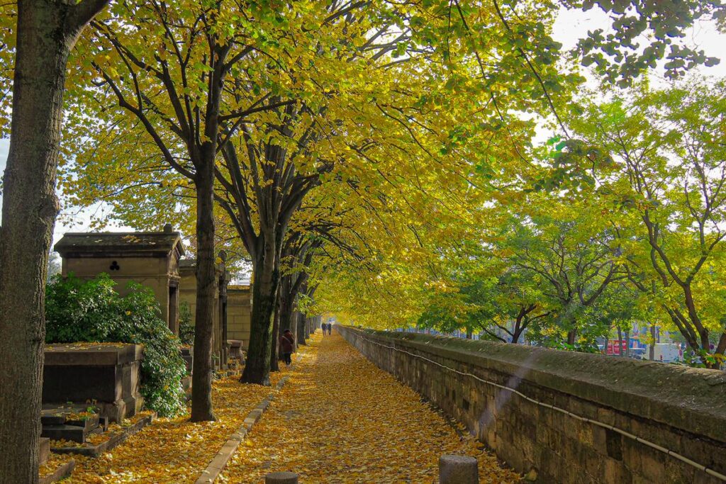
[[[364,356],[465,424],[529,480],[724,482],[703,467],[726,475],[725,372],[336,328]]]

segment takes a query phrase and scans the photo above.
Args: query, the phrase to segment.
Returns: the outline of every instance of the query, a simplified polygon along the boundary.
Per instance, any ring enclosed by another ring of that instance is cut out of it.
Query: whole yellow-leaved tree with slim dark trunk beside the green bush
[[[264,55],[271,46],[269,38],[274,33],[284,38],[287,27],[269,7],[233,1],[123,3],[94,22],[92,38],[80,57],[80,75],[83,67],[92,66],[97,77],[90,91],[78,93],[79,110],[89,109],[90,104],[97,109],[94,116],[105,119],[104,131],[92,132],[104,139],[113,132],[126,140],[151,142],[158,153],[154,163],[160,158],[194,187],[197,304],[192,421],[215,419],[211,340],[216,160],[248,115],[287,104],[253,92],[240,95],[245,87],[242,73],[249,68],[242,62],[254,52]],[[280,86],[285,80],[277,82]],[[118,156],[107,155],[112,160]]]

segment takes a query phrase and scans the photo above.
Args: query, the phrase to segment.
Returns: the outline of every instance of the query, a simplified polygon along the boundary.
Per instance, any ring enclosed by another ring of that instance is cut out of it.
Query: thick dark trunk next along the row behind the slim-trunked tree
[[[248,345],[245,369],[240,381],[270,384],[270,353],[272,340],[272,319],[277,300],[277,285],[280,282],[280,268],[275,261],[272,244],[266,244],[260,234],[258,251],[253,258],[252,315],[250,317],[250,344]]]

